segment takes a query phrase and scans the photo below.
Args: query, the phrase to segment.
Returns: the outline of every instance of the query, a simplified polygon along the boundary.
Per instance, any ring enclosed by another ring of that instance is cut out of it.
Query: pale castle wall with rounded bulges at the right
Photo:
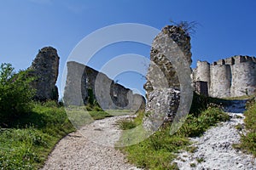
[[[217,98],[256,94],[256,58],[237,55],[219,59],[212,65],[197,61],[193,77],[199,94]]]

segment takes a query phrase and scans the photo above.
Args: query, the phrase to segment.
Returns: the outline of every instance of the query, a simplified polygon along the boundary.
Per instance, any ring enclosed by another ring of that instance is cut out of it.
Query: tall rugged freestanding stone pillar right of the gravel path
[[[147,82],[144,84],[144,89],[147,92],[146,112],[149,113],[149,121],[144,120],[143,126],[150,129],[160,127],[160,124],[152,124],[154,120],[165,119],[172,122],[180,103],[180,81],[175,65],[172,65],[171,61],[160,53],[160,50],[165,47],[172,50],[172,44],[160,42],[162,38],[176,42],[189,66],[192,62],[189,34],[179,26],[165,26],[152,43],[150,51],[152,62],[148,68]],[[173,57],[177,58],[177,55]]]

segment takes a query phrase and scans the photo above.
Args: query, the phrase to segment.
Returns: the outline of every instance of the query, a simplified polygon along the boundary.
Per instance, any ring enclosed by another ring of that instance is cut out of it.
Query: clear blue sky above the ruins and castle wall
[[[212,62],[236,54],[255,56],[255,8],[254,0],[0,0],[0,62],[11,63],[17,71],[26,69],[38,49],[52,46],[61,57],[61,75],[68,55],[92,31],[127,22],[161,29],[170,20],[199,23],[191,39],[192,67],[197,59]],[[127,44],[109,48],[113,56],[148,57],[149,47]],[[110,55],[102,49],[98,59]],[[130,88],[143,86],[141,77],[125,80],[127,75],[117,79]],[[57,85],[61,86],[61,77]]]

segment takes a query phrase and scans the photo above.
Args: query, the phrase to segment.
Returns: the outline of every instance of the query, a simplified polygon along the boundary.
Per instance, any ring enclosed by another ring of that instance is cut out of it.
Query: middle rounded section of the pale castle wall
[[[211,65],[210,95],[212,97],[230,97],[230,65]]]

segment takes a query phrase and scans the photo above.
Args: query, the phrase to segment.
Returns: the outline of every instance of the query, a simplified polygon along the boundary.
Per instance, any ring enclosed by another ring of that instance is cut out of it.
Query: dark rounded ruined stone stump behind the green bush
[[[32,65],[31,75],[36,77],[32,82],[32,88],[37,90],[35,99],[44,101],[47,99],[58,99],[58,88],[55,83],[59,74],[59,60],[57,50],[52,47],[46,47],[39,50]]]

